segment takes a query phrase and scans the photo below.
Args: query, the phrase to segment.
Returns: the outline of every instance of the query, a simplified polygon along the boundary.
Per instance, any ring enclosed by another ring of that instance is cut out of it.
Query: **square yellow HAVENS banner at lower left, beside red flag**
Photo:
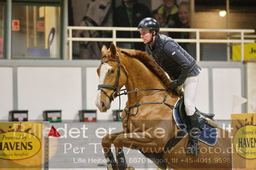
[[[0,169],[43,169],[46,122],[0,122]]]

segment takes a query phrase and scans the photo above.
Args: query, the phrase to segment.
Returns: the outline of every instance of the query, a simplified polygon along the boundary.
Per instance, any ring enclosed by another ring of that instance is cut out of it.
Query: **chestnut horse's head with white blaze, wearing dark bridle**
[[[101,49],[101,65],[97,69],[98,95],[95,102],[101,112],[107,112],[111,102],[127,81],[127,73],[120,63],[119,55],[113,43],[109,49],[105,45]]]

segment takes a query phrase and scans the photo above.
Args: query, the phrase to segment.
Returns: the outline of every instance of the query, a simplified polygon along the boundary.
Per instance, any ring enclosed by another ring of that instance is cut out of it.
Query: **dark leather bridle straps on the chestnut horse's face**
[[[110,100],[110,102],[112,102],[114,100],[114,95],[117,94],[118,92],[118,86],[119,86],[119,79],[120,79],[120,60],[119,60],[119,56],[117,54],[117,59],[108,59],[105,61],[101,61],[101,64],[103,63],[108,63],[108,61],[116,61],[117,62],[117,77],[115,79],[115,85],[111,86],[111,85],[105,85],[105,84],[99,84],[98,85],[98,90],[100,89]],[[108,95],[108,93],[104,90],[104,89],[112,89],[114,90],[114,93],[112,93],[110,96]]]

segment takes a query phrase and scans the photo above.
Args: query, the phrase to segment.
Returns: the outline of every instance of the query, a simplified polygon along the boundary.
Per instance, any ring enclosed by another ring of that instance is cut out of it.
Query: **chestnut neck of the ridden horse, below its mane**
[[[126,70],[128,71],[128,80],[125,84],[127,91],[133,91],[135,89],[164,89],[164,84],[160,79],[151,72],[146,66],[144,66],[141,61],[137,59],[131,58],[131,61],[125,62]],[[131,102],[132,99],[137,98],[137,100],[141,100],[141,98],[149,96],[156,91],[139,91],[137,92],[137,97],[135,93],[128,94],[128,103]]]

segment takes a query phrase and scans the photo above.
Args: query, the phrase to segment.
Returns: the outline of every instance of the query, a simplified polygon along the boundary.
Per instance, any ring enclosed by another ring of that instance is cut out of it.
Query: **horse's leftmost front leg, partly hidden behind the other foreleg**
[[[107,160],[108,169],[116,169],[116,162],[115,162],[114,155],[111,151],[111,144],[113,143],[117,135],[123,134],[123,133],[124,131],[117,132],[114,134],[107,134],[101,140],[101,145],[103,147],[104,155]]]

